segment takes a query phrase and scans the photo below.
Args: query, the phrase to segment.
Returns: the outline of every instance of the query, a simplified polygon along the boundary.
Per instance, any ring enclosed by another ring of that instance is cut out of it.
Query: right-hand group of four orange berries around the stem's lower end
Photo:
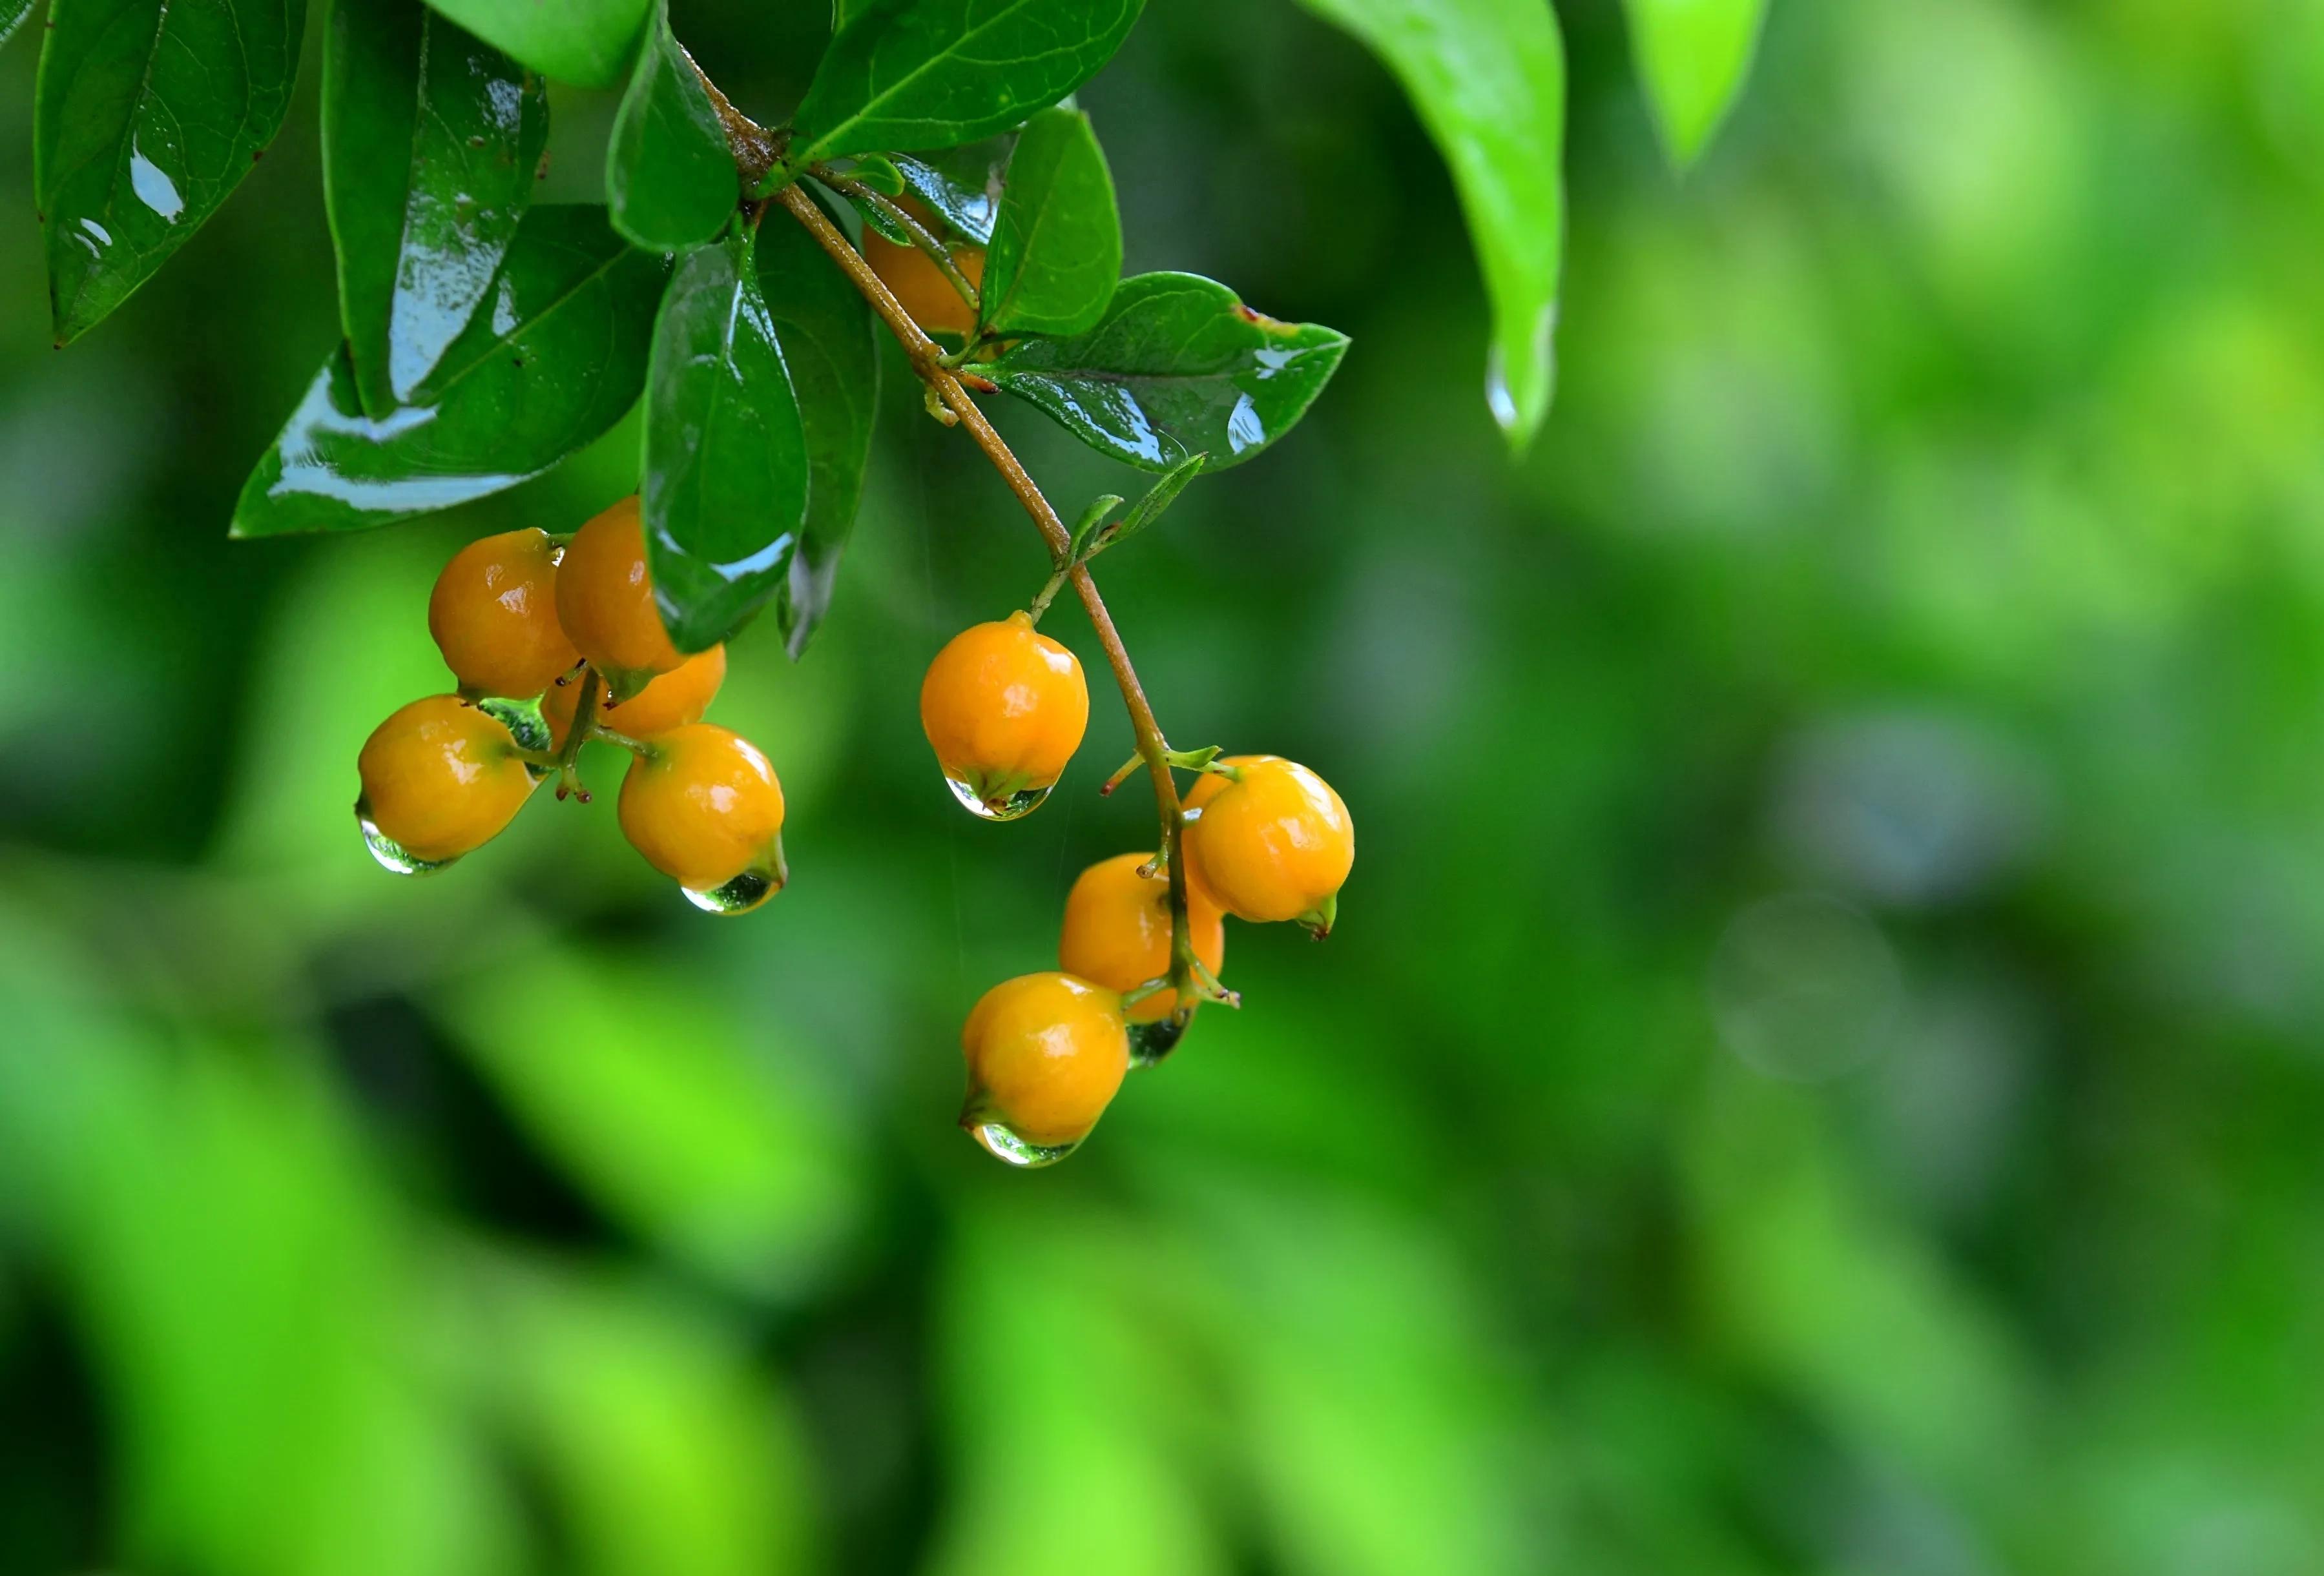
[[[937,765],[988,821],[1037,809],[1088,721],[1081,665],[1030,614],[962,630],[920,683]],[[1183,816],[1197,983],[1225,995],[1227,914],[1332,927],[1355,867],[1355,823],[1329,783],[1278,755],[1229,755],[1202,767]],[[1183,1025],[1169,904],[1160,858],[1090,865],[1064,900],[1057,972],[1002,981],[976,1002],[960,1032],[969,1062],[960,1125],[978,1144],[1016,1165],[1057,1160],[1090,1134],[1132,1065],[1169,1051]]]

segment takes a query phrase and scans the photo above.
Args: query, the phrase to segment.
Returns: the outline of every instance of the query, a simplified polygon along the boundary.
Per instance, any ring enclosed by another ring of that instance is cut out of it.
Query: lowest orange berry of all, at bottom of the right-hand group
[[[1027,1144],[1078,1144],[1129,1072],[1120,995],[1071,974],[992,986],[960,1030],[964,1127],[1004,1123]]]

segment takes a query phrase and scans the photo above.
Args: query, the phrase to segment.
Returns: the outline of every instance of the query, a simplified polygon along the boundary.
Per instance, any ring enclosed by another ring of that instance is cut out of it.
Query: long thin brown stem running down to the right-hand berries
[[[1195,1013],[1197,988],[1195,988],[1195,927],[1188,923],[1185,904],[1185,860],[1178,858],[1178,834],[1183,830],[1183,818],[1178,811],[1178,783],[1171,779],[1169,762],[1169,739],[1162,737],[1162,723],[1155,721],[1155,709],[1146,700],[1146,690],[1139,686],[1139,672],[1129,665],[1129,649],[1122,644],[1120,630],[1113,628],[1113,614],[1106,611],[1106,600],[1097,593],[1097,581],[1090,579],[1090,567],[1085,563],[1074,563],[1074,532],[1064,528],[1057,511],[1050,507],[1041,486],[1032,479],[1025,465],[1016,458],[992,423],[969,397],[960,377],[944,365],[944,351],[930,339],[911,314],[904,311],[895,293],[871,272],[862,253],[848,244],[848,237],[825,216],[816,200],[809,198],[797,186],[786,186],[774,193],[774,202],[781,202],[792,219],[806,225],[806,232],[816,237],[823,251],[830,253],[839,272],[862,293],[871,309],[888,325],[888,332],[897,337],[904,346],[904,356],[911,360],[911,370],[920,374],[930,393],[967,428],[969,437],[992,463],[992,470],[1002,474],[1009,490],[1032,516],[1034,528],[1048,544],[1048,558],[1055,565],[1064,565],[1067,583],[1074,586],[1074,595],[1081,597],[1083,611],[1090,614],[1090,628],[1097,632],[1097,644],[1106,653],[1106,667],[1113,669],[1113,683],[1122,690],[1122,707],[1129,711],[1129,732],[1136,735],[1139,758],[1146,762],[1146,776],[1155,786],[1155,814],[1162,823],[1162,862],[1169,867],[1169,979],[1178,988],[1178,1007],[1171,1013],[1174,1020],[1185,1023]]]

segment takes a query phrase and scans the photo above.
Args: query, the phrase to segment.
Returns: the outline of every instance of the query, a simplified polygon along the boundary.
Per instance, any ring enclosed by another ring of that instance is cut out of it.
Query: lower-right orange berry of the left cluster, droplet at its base
[[[621,830],[658,872],[709,893],[746,869],[781,869],[783,783],[741,735],[688,723],[630,762]]]

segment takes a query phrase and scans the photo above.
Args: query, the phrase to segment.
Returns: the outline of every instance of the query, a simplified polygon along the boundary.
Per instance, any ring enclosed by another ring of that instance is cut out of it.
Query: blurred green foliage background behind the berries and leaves
[[[776,119],[818,7],[760,9],[674,7]],[[909,379],[830,623],[716,709],[779,902],[695,914],[607,795],[393,881],[353,758],[446,683],[435,569],[634,428],[228,544],[335,337],[314,60],[53,353],[16,40],[0,1569],[2324,1571],[2324,5],[1778,0],[1685,181],[1613,0],[1559,12],[1522,465],[1357,46],[1169,0],[1083,93],[1132,267],[1355,337],[1104,579],[1174,739],[1362,848],[1041,1174],[953,1130],[957,1023],[1150,809],[1104,700],[1032,821],[944,793],[918,674],[1043,560]]]

